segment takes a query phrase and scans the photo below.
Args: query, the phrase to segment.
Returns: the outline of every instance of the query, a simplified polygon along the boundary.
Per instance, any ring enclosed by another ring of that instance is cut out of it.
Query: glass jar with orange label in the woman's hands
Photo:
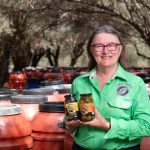
[[[81,94],[79,102],[80,120],[83,122],[91,121],[95,118],[94,104],[91,94]]]

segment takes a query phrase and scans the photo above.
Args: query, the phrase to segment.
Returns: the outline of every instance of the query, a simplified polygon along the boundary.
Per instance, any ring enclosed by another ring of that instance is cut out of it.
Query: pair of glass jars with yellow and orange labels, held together
[[[91,94],[81,94],[80,96],[79,103],[74,95],[65,96],[65,114],[68,121],[79,119],[87,122],[95,118],[94,103]]]

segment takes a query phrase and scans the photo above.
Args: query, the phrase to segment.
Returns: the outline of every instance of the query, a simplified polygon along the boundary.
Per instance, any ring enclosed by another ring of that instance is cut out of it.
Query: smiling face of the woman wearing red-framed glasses
[[[110,33],[97,34],[91,44],[91,53],[103,68],[116,66],[122,49],[119,39]]]

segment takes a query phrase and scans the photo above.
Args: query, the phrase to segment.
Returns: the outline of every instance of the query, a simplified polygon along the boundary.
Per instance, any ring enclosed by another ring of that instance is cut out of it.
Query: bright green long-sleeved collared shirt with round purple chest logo
[[[111,123],[109,131],[89,126],[76,130],[75,142],[88,150],[117,150],[150,136],[150,100],[143,80],[118,65],[115,76],[99,89],[96,68],[73,81],[71,92],[92,93],[99,113]]]

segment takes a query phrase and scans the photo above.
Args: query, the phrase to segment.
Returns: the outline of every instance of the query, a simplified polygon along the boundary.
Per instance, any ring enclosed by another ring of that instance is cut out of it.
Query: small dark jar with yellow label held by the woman
[[[65,95],[65,115],[68,121],[79,119],[78,102],[73,94]]]

